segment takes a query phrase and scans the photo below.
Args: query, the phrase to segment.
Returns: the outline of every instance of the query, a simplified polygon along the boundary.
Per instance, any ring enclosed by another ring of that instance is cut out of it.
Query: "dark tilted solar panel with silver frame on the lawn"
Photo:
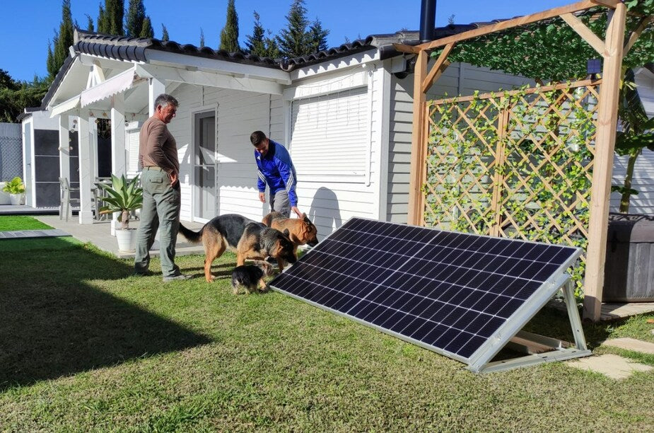
[[[270,286],[479,371],[569,286],[564,272],[580,253],[352,218]]]

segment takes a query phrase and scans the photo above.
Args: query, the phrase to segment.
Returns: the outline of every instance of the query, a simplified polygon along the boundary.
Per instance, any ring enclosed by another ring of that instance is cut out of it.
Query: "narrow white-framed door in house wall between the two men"
[[[216,217],[216,112],[199,112],[194,120],[193,219]]]

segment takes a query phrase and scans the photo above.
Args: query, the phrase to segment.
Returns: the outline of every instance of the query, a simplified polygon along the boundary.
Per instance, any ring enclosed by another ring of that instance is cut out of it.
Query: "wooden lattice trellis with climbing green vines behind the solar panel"
[[[585,249],[599,85],[428,102],[424,223]]]

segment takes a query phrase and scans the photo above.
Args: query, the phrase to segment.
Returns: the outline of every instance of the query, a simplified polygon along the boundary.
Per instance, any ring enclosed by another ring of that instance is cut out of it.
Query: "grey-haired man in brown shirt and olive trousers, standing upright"
[[[141,127],[139,136],[139,165],[143,186],[143,209],[139,231],[136,233],[135,275],[147,275],[150,248],[157,229],[163,281],[188,279],[175,265],[175,243],[180,229],[180,162],[177,144],[166,125],[177,112],[177,100],[166,93],[154,103],[155,112]]]

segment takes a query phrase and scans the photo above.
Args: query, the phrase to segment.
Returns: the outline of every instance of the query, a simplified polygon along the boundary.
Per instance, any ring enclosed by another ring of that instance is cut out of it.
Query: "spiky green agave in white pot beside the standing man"
[[[100,207],[100,214],[119,212],[118,221],[121,226],[116,230],[118,250],[134,251],[136,247],[136,229],[129,228],[130,214],[143,206],[143,189],[139,187],[139,177],[127,180],[124,175],[119,178],[111,175],[111,184],[100,187],[105,190],[107,197],[103,197],[105,206]]]

